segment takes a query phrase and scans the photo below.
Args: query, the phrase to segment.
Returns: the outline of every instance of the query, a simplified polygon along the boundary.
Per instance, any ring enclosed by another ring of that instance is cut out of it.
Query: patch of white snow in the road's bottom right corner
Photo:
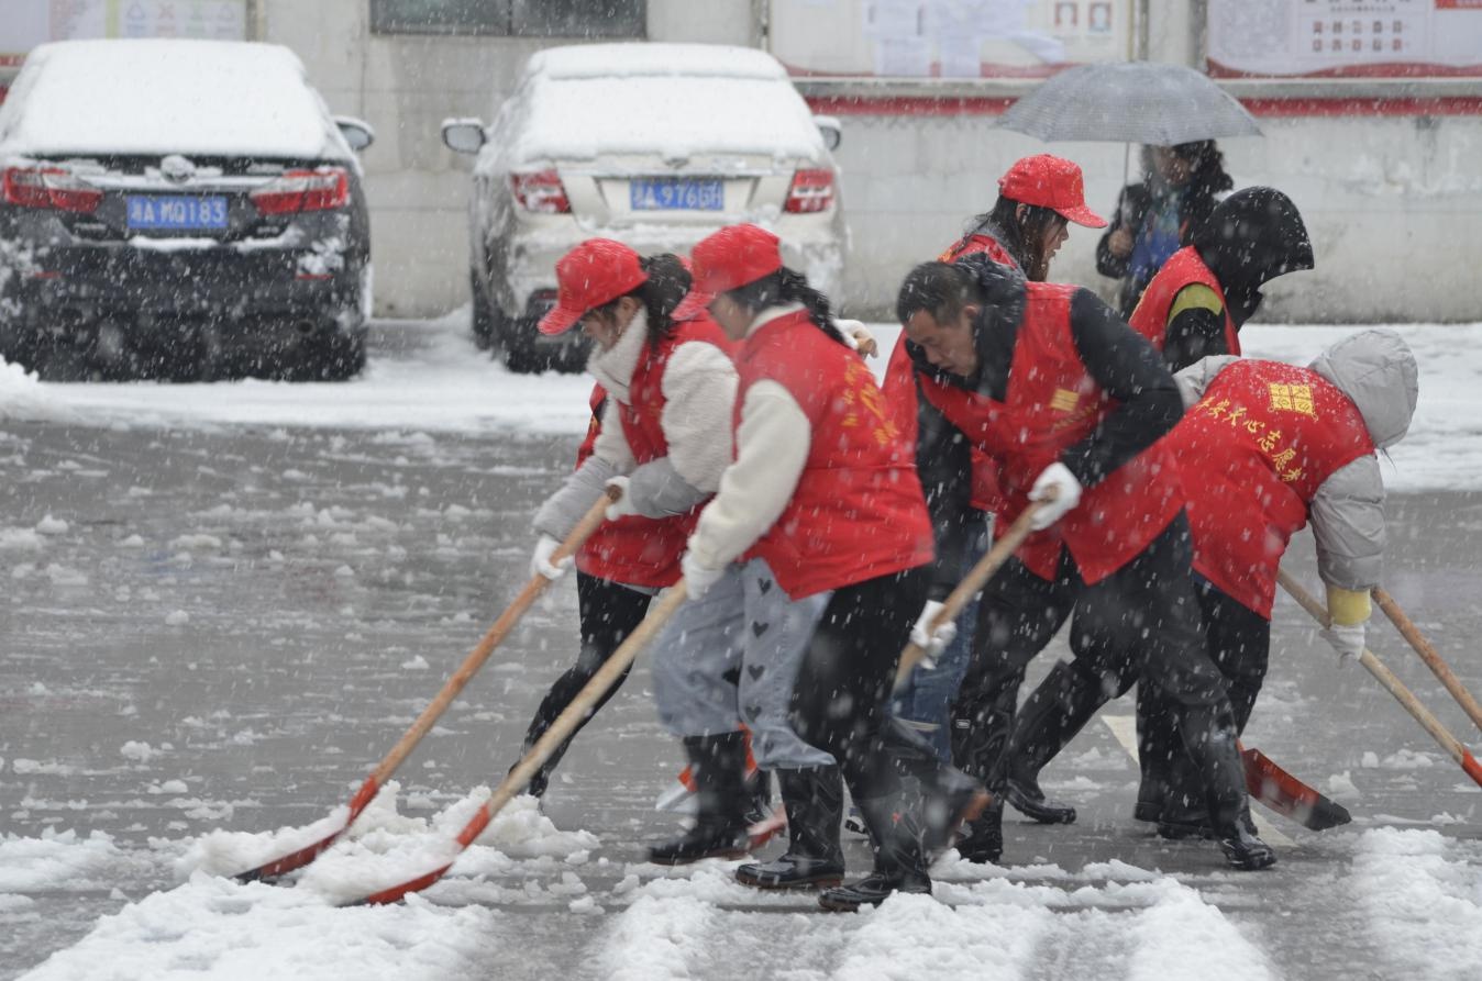
[[[1399,974],[1475,978],[1482,965],[1476,855],[1439,831],[1372,828],[1358,842],[1355,892]]]

